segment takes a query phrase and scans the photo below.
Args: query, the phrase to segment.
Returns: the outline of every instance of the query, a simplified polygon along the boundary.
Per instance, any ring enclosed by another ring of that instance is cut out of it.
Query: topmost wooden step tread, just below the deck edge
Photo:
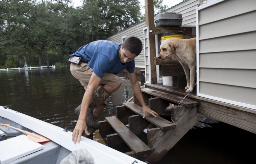
[[[180,105],[183,105],[185,107],[191,107],[191,106],[196,106],[196,105],[200,104],[199,102],[189,100],[189,99],[186,99],[186,98],[182,101],[183,97],[171,95],[171,94],[164,93],[164,92],[157,91],[157,90],[153,90],[153,89],[150,89],[150,88],[143,88],[143,89],[141,89],[141,92],[159,97],[161,99],[164,99],[164,100],[176,103],[176,104],[179,104],[181,102]]]

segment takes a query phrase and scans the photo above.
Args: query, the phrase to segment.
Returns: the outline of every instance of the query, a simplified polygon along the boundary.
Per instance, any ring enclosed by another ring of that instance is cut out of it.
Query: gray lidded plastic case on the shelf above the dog
[[[156,15],[156,26],[179,27],[182,25],[182,15],[177,12],[162,12]]]

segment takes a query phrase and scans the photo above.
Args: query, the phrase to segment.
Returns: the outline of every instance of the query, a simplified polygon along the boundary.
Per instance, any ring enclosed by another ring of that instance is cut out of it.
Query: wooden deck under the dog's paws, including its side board
[[[162,83],[145,84],[145,87],[181,97],[187,95],[183,88],[164,86]],[[197,113],[256,133],[256,110],[199,97],[196,96],[196,88],[193,90],[186,98],[200,103],[197,106]]]

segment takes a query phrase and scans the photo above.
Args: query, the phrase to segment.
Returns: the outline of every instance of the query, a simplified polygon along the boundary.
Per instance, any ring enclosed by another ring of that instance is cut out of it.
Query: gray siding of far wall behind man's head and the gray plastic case
[[[195,8],[199,4],[199,0],[187,0],[178,5],[175,5],[164,12],[179,12],[182,14],[183,22],[182,25],[195,25],[196,24],[196,14]],[[135,58],[135,67],[145,68],[145,58],[144,58],[144,40],[143,40],[143,28],[146,27],[146,21],[141,21],[120,33],[117,33],[106,40],[110,40],[116,43],[122,43],[122,37],[126,38],[130,36],[138,37],[143,45],[141,53]],[[149,76],[148,76],[149,77]]]

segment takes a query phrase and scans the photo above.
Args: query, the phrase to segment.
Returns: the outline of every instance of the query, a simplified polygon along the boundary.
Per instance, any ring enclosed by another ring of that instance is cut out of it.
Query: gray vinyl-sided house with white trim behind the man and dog
[[[165,12],[181,13],[182,25],[192,27],[192,36],[197,38],[196,92],[187,95],[200,102],[197,113],[256,133],[256,1],[186,0]],[[150,85],[146,22],[139,22],[107,40],[122,43],[123,38],[130,36],[140,38],[143,44],[135,67],[137,71],[146,69],[146,85]],[[155,39],[158,55],[160,36],[156,35]],[[156,76],[157,83],[161,83],[159,72]],[[159,88],[161,84],[157,85]],[[175,89],[164,90],[181,97],[186,95]]]

